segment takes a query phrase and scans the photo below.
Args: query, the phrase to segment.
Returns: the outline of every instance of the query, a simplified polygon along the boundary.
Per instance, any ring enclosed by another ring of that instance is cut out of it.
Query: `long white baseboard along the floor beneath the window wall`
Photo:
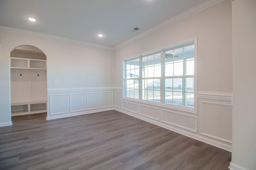
[[[131,116],[136,117],[136,118],[138,118],[138,119],[147,121],[147,122],[152,123],[152,124],[154,124],[154,125],[158,125],[158,126],[160,126],[160,127],[163,127],[163,128],[165,128],[165,129],[174,131],[174,132],[176,132],[176,133],[180,133],[181,135],[185,135],[185,136],[187,136],[187,137],[196,139],[196,140],[198,140],[198,141],[202,141],[202,142],[204,142],[204,143],[208,143],[209,145],[213,145],[213,146],[218,147],[218,148],[220,148],[220,149],[224,149],[224,150],[227,150],[227,151],[229,151],[229,152],[232,151],[232,146],[231,146],[231,145],[226,145],[226,144],[224,144],[224,143],[220,143],[220,142],[218,142],[218,141],[214,141],[214,140],[212,140],[212,139],[208,139],[208,138],[206,138],[206,137],[200,136],[200,135],[198,135],[197,133],[192,133],[192,132],[189,132],[189,131],[184,131],[184,130],[182,130],[182,129],[178,129],[178,128],[173,127],[173,126],[166,125],[166,124],[161,123],[161,122],[159,122],[159,121],[152,120],[152,119],[148,119],[148,118],[146,118],[146,117],[144,117],[144,116],[142,116],[142,115],[130,113],[130,112],[125,111],[125,110],[123,110],[123,109],[118,109],[118,108],[114,108],[114,109],[115,109],[116,111],[120,111],[120,112],[125,113],[125,114],[127,114],[127,115],[131,115]]]

